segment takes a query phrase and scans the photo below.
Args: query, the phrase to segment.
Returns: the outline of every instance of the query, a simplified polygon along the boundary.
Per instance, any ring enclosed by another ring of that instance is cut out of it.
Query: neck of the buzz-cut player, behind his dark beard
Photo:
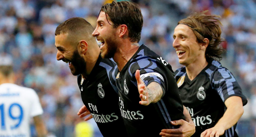
[[[99,49],[98,45],[96,45],[97,48],[96,50],[91,50],[88,51],[86,54],[86,56],[84,57],[85,61],[86,61],[86,69],[84,73],[81,73],[83,78],[86,78],[87,76],[90,75],[91,71],[93,70],[98,58],[99,58],[99,54],[101,53],[101,50]]]

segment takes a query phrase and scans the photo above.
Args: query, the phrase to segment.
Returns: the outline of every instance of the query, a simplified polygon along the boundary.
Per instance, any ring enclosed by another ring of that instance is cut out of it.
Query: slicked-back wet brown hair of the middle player
[[[128,37],[131,42],[139,42],[141,39],[141,29],[143,17],[141,9],[136,3],[128,1],[107,3],[101,7],[106,16],[113,22],[113,28],[125,24],[128,28]],[[108,20],[107,20],[108,21]]]

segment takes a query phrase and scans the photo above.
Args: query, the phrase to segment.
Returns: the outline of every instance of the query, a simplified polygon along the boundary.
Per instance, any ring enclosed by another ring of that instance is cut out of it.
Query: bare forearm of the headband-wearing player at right
[[[243,106],[241,104],[230,104],[223,117],[219,119],[215,126],[227,130],[237,123],[242,114]]]

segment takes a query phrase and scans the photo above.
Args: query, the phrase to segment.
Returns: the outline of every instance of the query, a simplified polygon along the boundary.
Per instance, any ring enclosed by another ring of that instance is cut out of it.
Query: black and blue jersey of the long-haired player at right
[[[243,105],[247,103],[233,74],[216,60],[209,59],[207,62],[208,65],[192,81],[185,67],[175,71],[183,105],[195,124],[194,137],[216,125],[227,109],[224,104],[227,98],[240,96]],[[226,130],[222,137],[237,136],[235,127],[236,124]]]

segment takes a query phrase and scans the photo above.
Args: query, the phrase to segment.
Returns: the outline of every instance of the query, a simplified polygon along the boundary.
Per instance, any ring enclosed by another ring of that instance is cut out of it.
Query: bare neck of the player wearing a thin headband
[[[186,65],[187,76],[190,80],[193,80],[207,65],[206,58],[195,60],[193,63]]]

